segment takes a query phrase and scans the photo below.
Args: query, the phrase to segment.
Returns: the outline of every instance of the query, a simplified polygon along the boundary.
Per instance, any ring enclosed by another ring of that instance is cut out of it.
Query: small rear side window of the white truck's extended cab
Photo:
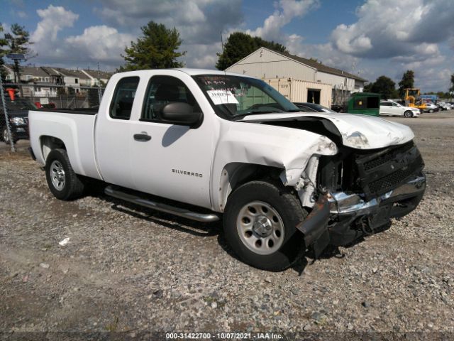
[[[129,119],[133,109],[135,91],[139,77],[124,77],[118,81],[111,103],[110,115],[113,119]]]

